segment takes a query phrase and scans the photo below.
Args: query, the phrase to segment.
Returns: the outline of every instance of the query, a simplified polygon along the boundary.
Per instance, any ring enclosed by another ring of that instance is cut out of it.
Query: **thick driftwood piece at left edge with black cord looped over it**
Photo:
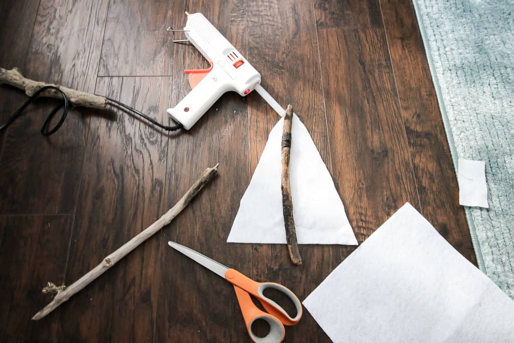
[[[20,73],[18,68],[12,68],[10,70],[0,68],[0,84],[4,83],[22,89],[29,97],[43,86],[54,86],[60,88],[61,91],[63,91],[64,94],[68,96],[69,101],[75,106],[90,107],[92,109],[99,110],[103,110],[107,106],[107,99],[104,97],[87,92],[77,91],[77,89],[71,89],[53,83],[45,83],[27,79]],[[47,89],[41,94],[41,96],[57,99],[62,98],[61,94],[54,89]]]

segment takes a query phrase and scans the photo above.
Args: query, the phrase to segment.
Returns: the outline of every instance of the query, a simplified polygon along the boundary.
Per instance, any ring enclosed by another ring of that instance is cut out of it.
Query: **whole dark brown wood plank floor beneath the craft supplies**
[[[427,59],[409,0],[66,1],[0,4],[0,66],[107,95],[168,121],[207,65],[166,27],[201,11],[243,52],[313,137],[359,242],[406,202],[475,262]],[[25,100],[0,87],[0,119]],[[248,341],[233,289],[174,240],[300,299],[355,247],[226,244],[278,116],[226,94],[189,132],[122,112],[73,110],[39,130],[40,101],[0,133],[0,341]],[[205,168],[219,177],[163,229],[41,321],[46,282],[70,284],[168,210]],[[420,266],[423,267],[423,266]],[[287,341],[328,341],[309,313]]]

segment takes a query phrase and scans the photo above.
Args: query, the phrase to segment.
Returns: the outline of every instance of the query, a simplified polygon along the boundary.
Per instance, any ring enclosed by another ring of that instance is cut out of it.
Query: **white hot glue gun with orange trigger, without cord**
[[[261,74],[203,14],[189,14],[184,31],[211,65],[209,69],[184,70],[189,74],[193,89],[167,111],[173,120],[189,130],[224,93],[233,91],[241,96],[248,95],[261,83]]]

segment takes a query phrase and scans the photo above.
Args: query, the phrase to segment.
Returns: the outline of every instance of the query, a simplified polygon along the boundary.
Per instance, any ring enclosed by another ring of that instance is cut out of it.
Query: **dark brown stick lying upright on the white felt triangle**
[[[292,106],[287,105],[282,129],[282,210],[286,228],[287,249],[292,263],[302,264],[298,242],[296,240],[295,218],[292,214],[291,187],[289,184],[289,157],[291,153]]]

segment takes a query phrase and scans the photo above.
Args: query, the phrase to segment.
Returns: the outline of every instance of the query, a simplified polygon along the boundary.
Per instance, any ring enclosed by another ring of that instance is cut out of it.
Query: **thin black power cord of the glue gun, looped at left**
[[[41,134],[43,136],[50,136],[50,135],[56,133],[57,130],[59,130],[61,128],[62,124],[64,123],[64,120],[66,119],[66,116],[68,115],[69,104],[71,102],[70,102],[68,96],[60,88],[55,87],[55,86],[43,86],[43,87],[39,88],[38,91],[36,91],[30,98],[28,98],[28,100],[25,101],[25,103],[16,112],[14,112],[14,114],[12,116],[9,119],[7,119],[7,121],[4,124],[2,124],[0,126],[0,131],[7,129],[7,127],[14,120],[16,120],[16,118],[18,118],[22,115],[23,110],[25,110],[26,107],[32,101],[34,101],[36,98],[38,98],[41,95],[41,93],[43,93],[47,89],[54,89],[55,91],[59,92],[59,94],[62,96],[63,101],[62,101],[62,103],[60,103],[59,105],[54,107],[54,109],[52,111],[50,111],[50,113],[46,117],[45,121],[43,122],[43,126],[41,127]],[[180,123],[177,123],[176,125],[173,125],[173,126],[163,125],[163,124],[159,123],[158,121],[156,121],[155,119],[150,118],[149,116],[145,115],[144,113],[132,108],[131,106],[125,105],[124,103],[119,102],[118,100],[114,100],[114,99],[107,98],[107,97],[104,97],[104,98],[107,99],[111,103],[111,105],[114,104],[115,106],[122,107],[123,109],[125,109],[127,111],[137,114],[138,116],[144,118],[145,120],[148,120],[149,122],[151,122],[152,124],[161,128],[162,130],[176,131],[176,130],[182,128],[182,124],[180,124]],[[56,113],[61,108],[63,109],[62,114],[61,114],[61,119],[59,119],[58,123],[51,130],[48,130],[48,124],[52,120],[53,116],[56,115]]]

